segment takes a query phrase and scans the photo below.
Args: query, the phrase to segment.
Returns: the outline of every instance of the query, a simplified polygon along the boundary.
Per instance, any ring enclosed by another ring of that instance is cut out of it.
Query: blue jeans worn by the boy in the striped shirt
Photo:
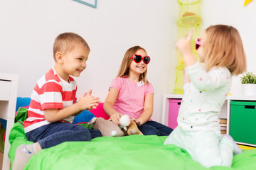
[[[68,141],[90,141],[102,136],[99,130],[87,129],[81,125],[55,122],[26,133],[31,142],[39,142],[42,149],[53,147]]]

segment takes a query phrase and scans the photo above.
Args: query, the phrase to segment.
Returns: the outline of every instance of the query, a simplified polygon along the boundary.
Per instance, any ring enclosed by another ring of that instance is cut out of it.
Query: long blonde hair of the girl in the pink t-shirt
[[[139,50],[144,50],[144,52],[146,52],[146,50],[143,47],[139,46],[131,47],[127,50],[127,52],[125,52],[117,77],[126,77],[129,74],[129,66],[133,61],[132,59],[130,59],[130,57],[136,55],[136,52]],[[146,84],[148,84],[149,81],[146,79],[146,72],[147,69],[144,73],[139,75],[139,81],[144,81]]]

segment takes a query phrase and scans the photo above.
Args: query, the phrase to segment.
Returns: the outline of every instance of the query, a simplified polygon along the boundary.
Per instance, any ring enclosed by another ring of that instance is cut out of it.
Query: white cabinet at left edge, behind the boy
[[[9,135],[14,125],[17,91],[18,75],[0,73],[0,118],[7,120],[2,167],[4,170],[10,169],[10,159],[8,157],[10,149]]]

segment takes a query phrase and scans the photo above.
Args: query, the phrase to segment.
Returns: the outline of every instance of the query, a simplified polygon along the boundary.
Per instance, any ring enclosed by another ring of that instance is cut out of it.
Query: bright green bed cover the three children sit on
[[[14,162],[16,147],[32,143],[26,140],[23,131],[22,123],[25,119],[26,108],[19,108],[16,123],[9,137],[11,164]],[[86,125],[82,121],[78,124]],[[38,152],[30,159],[25,169],[208,169],[193,161],[185,150],[175,145],[163,145],[165,139],[166,137],[155,135],[132,135],[97,137],[90,142],[63,142]],[[254,170],[256,149],[243,149],[242,154],[234,156],[230,168],[213,166],[209,169]]]

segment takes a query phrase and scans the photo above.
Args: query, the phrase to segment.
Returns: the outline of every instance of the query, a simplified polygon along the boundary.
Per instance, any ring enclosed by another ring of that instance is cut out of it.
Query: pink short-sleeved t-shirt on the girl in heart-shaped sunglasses
[[[117,77],[110,87],[117,89],[119,94],[114,103],[114,110],[129,118],[139,118],[144,112],[144,101],[147,94],[154,94],[152,84],[139,84],[126,77]]]

